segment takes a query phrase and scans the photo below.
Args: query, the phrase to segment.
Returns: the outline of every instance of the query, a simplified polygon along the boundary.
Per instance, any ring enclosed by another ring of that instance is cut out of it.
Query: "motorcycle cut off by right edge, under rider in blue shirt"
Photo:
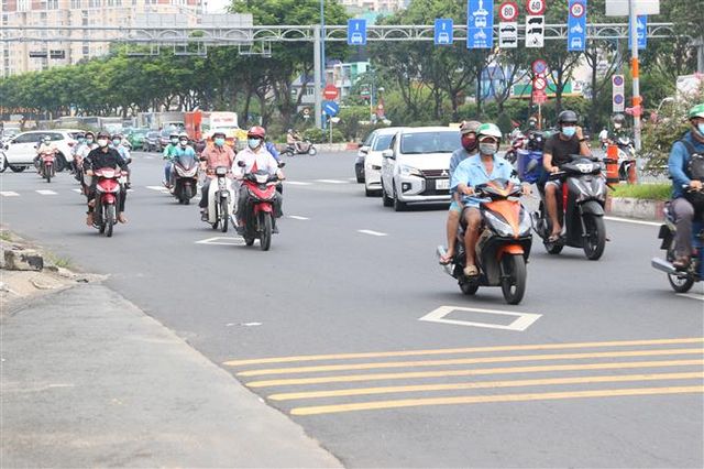
[[[664,223],[660,226],[658,239],[662,240],[660,249],[666,251],[666,259],[653,258],[650,265],[668,274],[670,286],[678,293],[689,292],[694,283],[704,280],[704,219],[700,214],[700,219],[692,223],[692,258],[686,270],[676,270],[672,262],[675,260],[674,234],[676,226],[674,223],[674,212],[670,204],[666,204]]]

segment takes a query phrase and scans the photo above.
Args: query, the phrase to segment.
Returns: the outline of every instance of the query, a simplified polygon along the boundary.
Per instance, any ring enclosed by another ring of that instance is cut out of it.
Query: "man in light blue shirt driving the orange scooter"
[[[474,187],[493,179],[506,179],[514,184],[520,184],[514,175],[514,167],[501,156],[496,155],[502,141],[502,131],[494,123],[483,123],[476,130],[479,142],[479,154],[470,156],[461,162],[454,174],[450,190],[457,190],[464,205],[462,218],[466,222],[464,232],[464,249],[466,252],[466,263],[464,268],[465,276],[477,276],[480,271],[475,265],[476,240],[480,234],[482,217],[480,214],[480,201],[474,197]],[[522,185],[524,194],[530,193],[528,184]]]

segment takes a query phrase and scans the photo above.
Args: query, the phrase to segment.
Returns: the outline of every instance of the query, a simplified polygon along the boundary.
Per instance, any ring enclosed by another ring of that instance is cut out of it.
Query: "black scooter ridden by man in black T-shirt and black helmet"
[[[596,261],[604,253],[606,227],[604,205],[606,204],[606,181],[602,175],[602,164],[593,156],[570,155],[571,161],[560,172],[549,175],[549,179],[562,179],[562,196],[558,196],[558,217],[563,234],[550,240],[552,223],[546,207],[544,187],[539,187],[540,207],[532,214],[534,229],[550,254],[559,254],[570,246],[584,249],[586,258]]]

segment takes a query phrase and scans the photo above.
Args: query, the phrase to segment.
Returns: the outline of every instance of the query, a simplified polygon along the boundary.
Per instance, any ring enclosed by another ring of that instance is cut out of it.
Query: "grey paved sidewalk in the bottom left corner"
[[[1,467],[341,467],[100,284],[38,297],[0,320]]]

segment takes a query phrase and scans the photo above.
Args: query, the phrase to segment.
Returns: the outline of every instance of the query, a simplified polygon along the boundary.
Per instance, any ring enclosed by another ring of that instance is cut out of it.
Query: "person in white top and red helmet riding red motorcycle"
[[[263,127],[254,126],[246,132],[248,146],[238,153],[232,165],[232,172],[242,178],[245,174],[254,171],[265,170],[270,175],[276,174],[279,181],[284,179],[284,173],[279,170],[278,163],[272,154],[264,148],[266,130]],[[239,166],[239,162],[244,162],[244,167]],[[249,205],[250,196],[244,184],[240,186],[238,198],[238,232],[244,232],[244,217]],[[282,196],[276,193],[274,198],[274,232],[278,232],[276,218],[282,216]]]

